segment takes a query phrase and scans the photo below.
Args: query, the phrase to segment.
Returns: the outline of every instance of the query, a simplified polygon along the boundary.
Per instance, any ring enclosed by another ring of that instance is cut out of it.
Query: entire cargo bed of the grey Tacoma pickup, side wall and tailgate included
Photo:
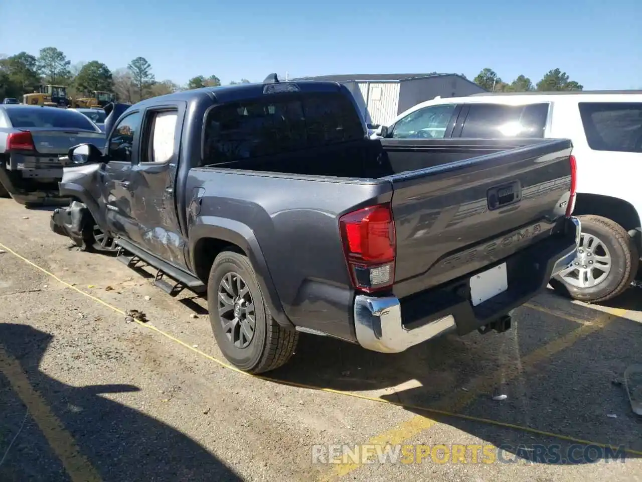
[[[196,168],[186,192],[211,193],[216,210],[202,213],[213,216],[208,222],[236,219],[260,237],[295,325],[352,339],[338,321],[351,316],[343,310],[354,296],[339,217],[390,203],[396,231],[392,292],[408,298],[562,231],[570,153],[565,139],[368,139]],[[490,190],[506,187],[516,199],[489,208]]]

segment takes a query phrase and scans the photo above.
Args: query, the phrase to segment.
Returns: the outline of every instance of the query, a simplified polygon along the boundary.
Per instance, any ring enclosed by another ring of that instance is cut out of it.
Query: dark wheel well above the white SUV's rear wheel
[[[636,230],[638,247],[642,245],[639,235],[641,222],[638,211],[630,202],[618,199],[617,197],[602,196],[598,194],[578,193],[575,201],[574,216],[593,214],[611,219],[620,224],[627,231]]]

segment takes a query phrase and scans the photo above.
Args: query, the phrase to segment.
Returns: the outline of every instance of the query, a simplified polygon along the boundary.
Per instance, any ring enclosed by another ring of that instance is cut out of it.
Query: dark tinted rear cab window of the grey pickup
[[[272,94],[215,107],[205,120],[204,163],[270,156],[365,138],[341,94]]]

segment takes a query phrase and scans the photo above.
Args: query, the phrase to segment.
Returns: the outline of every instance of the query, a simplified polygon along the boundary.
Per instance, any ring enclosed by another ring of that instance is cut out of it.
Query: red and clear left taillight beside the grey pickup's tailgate
[[[339,229],[352,284],[373,292],[395,277],[395,224],[390,204],[377,204],[340,217]]]

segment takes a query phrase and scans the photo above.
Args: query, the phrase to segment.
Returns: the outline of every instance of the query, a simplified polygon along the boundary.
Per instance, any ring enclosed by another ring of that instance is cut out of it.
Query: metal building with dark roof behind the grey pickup
[[[366,121],[381,124],[420,102],[486,92],[458,74],[320,75],[290,80],[340,82],[352,92]]]

